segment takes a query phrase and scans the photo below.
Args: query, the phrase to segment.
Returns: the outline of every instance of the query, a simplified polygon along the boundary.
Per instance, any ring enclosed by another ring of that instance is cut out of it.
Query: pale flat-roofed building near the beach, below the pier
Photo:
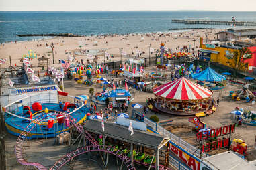
[[[232,27],[216,33],[219,41],[237,41],[256,38],[256,27]]]

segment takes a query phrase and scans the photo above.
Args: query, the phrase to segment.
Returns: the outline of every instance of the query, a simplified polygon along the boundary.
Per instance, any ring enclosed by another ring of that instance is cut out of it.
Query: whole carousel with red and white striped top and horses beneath
[[[156,98],[151,100],[159,112],[179,116],[191,116],[212,109],[212,90],[182,77],[153,89]]]

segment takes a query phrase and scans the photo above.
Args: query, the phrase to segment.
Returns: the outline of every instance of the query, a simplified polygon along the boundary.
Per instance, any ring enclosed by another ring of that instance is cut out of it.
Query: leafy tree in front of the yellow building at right
[[[234,76],[237,78],[237,70],[247,71],[248,62],[246,62],[246,60],[251,58],[251,50],[248,48],[241,48],[239,50],[235,50],[232,54],[232,58],[230,58],[227,63],[230,67],[234,68]]]

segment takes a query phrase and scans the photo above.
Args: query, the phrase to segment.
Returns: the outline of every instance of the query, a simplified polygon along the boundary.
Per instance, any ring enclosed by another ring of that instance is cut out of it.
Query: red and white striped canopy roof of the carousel
[[[201,100],[212,96],[211,90],[183,77],[154,88],[153,93],[173,100]]]

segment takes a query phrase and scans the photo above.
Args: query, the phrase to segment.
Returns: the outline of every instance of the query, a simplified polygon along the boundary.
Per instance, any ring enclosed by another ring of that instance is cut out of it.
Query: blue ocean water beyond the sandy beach
[[[256,21],[256,12],[220,11],[9,11],[0,12],[0,42],[26,41],[40,37],[19,34],[73,33],[100,35],[113,33],[167,32],[173,28],[226,28],[223,25],[184,25],[172,19]]]

